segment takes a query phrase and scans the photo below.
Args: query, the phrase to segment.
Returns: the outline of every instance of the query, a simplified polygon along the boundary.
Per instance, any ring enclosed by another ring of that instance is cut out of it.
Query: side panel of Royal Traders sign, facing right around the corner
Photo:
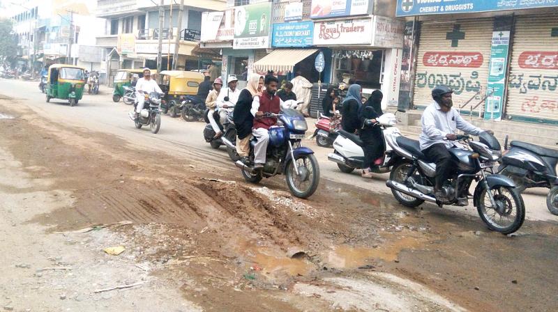
[[[389,17],[374,16],[374,47],[403,48],[405,22]]]

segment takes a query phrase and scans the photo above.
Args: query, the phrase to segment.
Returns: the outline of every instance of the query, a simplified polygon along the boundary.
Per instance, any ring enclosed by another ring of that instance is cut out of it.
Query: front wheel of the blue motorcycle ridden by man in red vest
[[[296,174],[294,164],[299,169]],[[308,198],[316,192],[319,184],[319,164],[314,154],[299,155],[291,159],[285,169],[287,186],[299,198]]]

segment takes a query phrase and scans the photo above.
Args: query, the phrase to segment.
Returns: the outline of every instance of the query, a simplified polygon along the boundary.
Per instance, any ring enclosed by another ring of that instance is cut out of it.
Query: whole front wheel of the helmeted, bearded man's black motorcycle
[[[495,207],[488,192],[494,197]],[[483,187],[476,209],[490,230],[502,234],[518,231],[525,221],[525,203],[515,187],[497,186],[490,190]]]

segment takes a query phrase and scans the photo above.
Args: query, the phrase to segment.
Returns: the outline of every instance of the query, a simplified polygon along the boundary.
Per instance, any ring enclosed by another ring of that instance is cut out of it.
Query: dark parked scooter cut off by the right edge
[[[531,187],[550,189],[546,206],[552,214],[558,215],[558,150],[521,141],[511,141],[508,145],[508,139],[506,136],[498,173],[513,180],[519,192]]]

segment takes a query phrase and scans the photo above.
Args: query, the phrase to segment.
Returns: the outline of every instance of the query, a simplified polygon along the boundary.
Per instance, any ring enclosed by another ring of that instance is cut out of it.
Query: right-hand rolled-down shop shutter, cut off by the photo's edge
[[[558,123],[558,15],[515,22],[505,112],[508,117]]]

